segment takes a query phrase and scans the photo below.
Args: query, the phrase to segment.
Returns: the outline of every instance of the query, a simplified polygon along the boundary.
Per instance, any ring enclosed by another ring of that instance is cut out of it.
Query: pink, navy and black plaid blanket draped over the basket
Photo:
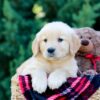
[[[59,89],[39,94],[33,90],[30,75],[19,75],[19,87],[26,100],[87,100],[100,87],[100,74],[68,78]]]

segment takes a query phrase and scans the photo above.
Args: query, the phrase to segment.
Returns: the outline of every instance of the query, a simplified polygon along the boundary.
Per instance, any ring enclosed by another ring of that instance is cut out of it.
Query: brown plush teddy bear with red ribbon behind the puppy
[[[76,60],[81,72],[95,70],[100,73],[100,31],[89,27],[75,29],[81,39]]]

